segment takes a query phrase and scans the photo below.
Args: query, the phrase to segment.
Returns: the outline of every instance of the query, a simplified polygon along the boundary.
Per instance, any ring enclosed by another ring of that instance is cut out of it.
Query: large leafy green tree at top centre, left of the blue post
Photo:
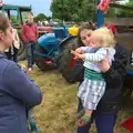
[[[65,21],[93,20],[96,13],[98,0],[52,0],[51,12],[53,18]]]

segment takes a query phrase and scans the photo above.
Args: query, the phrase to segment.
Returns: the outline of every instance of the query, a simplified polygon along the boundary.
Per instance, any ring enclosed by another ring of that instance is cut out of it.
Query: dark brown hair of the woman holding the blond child
[[[92,22],[84,22],[84,23],[82,23],[81,24],[81,27],[80,27],[80,29],[79,29],[79,34],[78,34],[78,43],[80,44],[80,45],[83,45],[83,43],[82,43],[82,41],[81,41],[81,37],[80,37],[80,33],[81,33],[81,31],[83,31],[83,30],[95,30],[96,29],[96,27],[92,23]]]

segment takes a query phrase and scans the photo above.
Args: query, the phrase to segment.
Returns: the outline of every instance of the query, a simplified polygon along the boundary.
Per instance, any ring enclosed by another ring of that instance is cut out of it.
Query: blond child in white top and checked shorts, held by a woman
[[[109,57],[110,65],[114,60],[115,41],[112,32],[108,28],[101,28],[92,32],[90,44],[71,51],[76,59],[84,61],[84,81],[81,83],[78,96],[82,100],[84,111],[79,114],[78,125],[88,124],[92,112],[105,91],[105,79],[99,69],[100,62]],[[83,114],[83,116],[81,116]]]

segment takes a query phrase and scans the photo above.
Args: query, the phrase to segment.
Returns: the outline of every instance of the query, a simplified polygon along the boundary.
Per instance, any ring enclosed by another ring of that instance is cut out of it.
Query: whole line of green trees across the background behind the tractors
[[[50,10],[52,18],[61,21],[96,21],[96,4],[98,0],[52,0]],[[130,0],[126,6],[133,7],[133,0]],[[133,11],[110,8],[105,17],[133,17]],[[43,13],[34,18],[35,21],[49,19],[50,17]]]

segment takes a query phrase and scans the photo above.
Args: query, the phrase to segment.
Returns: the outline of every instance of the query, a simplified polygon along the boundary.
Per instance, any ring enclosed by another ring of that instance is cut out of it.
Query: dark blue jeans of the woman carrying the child
[[[79,99],[78,112],[83,110],[83,105],[81,100]],[[91,129],[91,124],[93,120],[95,120],[96,131],[98,133],[113,133],[113,129],[116,122],[117,112],[113,112],[111,114],[96,114],[93,113],[90,120],[90,123],[85,126],[78,127],[76,133],[89,133]]]

